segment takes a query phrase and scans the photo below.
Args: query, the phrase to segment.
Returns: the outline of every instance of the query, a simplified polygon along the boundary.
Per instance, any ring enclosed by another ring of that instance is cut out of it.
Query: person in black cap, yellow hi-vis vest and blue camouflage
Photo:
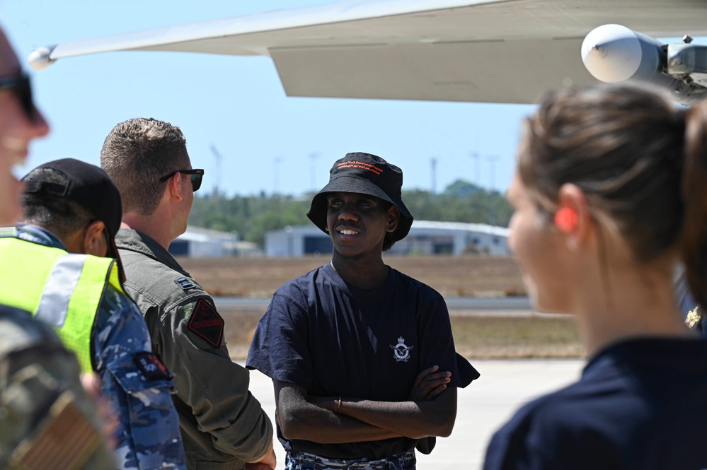
[[[119,468],[185,469],[172,375],[122,288],[115,184],[72,158],[40,165],[23,180],[24,223],[0,229],[0,302],[49,324],[81,370],[98,373],[119,421]]]

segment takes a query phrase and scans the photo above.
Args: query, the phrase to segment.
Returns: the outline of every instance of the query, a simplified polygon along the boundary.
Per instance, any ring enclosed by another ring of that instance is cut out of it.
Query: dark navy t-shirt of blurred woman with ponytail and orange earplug
[[[522,407],[484,470],[707,469],[707,341],[634,339]]]

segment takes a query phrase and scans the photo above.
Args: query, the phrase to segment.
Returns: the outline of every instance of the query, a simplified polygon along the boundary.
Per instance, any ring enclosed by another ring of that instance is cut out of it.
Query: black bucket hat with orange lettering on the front
[[[370,153],[347,153],[336,160],[329,170],[328,184],[318,192],[309,207],[307,217],[322,232],[326,231],[326,194],[355,192],[388,201],[400,210],[398,227],[392,233],[393,241],[402,240],[413,225],[413,216],[401,199],[403,170]]]

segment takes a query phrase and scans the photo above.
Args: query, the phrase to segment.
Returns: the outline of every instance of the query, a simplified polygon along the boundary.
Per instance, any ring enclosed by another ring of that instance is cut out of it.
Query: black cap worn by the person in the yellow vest
[[[96,165],[84,163],[75,158],[54,160],[38,166],[35,170],[40,168],[62,173],[69,182],[59,184],[42,181],[40,175],[27,175],[23,178],[25,193],[43,191],[54,196],[71,199],[79,206],[86,208],[96,217],[97,221],[105,223],[109,238],[108,256],[116,258],[120,262],[117,247],[115,247],[115,235],[120,228],[120,220],[122,219],[122,203],[120,192],[110,177]],[[120,271],[122,274],[122,266]]]

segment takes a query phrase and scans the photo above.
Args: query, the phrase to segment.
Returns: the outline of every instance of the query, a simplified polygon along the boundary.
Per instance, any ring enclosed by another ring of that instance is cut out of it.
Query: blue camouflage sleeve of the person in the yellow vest
[[[119,468],[186,470],[171,375],[149,379],[135,360],[152,352],[142,315],[110,285],[99,309],[93,351],[103,395],[120,416],[115,433]]]

